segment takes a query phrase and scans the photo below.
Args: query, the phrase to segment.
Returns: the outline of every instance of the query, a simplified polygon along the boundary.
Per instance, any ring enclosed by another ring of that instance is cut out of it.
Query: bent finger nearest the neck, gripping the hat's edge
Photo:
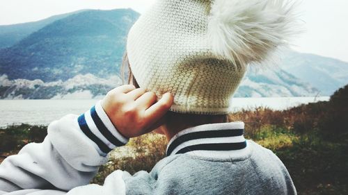
[[[162,96],[157,103],[151,105],[150,108],[145,110],[144,117],[148,121],[148,125],[154,124],[156,121],[161,119],[166,112],[171,108],[173,104],[173,96],[170,93],[166,93]]]

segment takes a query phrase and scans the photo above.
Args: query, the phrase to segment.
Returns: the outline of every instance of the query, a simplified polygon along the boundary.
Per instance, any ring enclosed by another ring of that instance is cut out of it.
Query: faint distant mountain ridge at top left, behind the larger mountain
[[[51,24],[52,22],[68,17],[69,15],[81,12],[84,10],[79,10],[77,12],[70,12],[63,15],[54,15],[47,19],[42,19],[37,22],[27,22],[22,24],[10,24],[10,25],[0,25],[0,49],[13,46],[13,44],[19,42],[24,37],[30,35],[31,33],[38,31],[40,28]]]

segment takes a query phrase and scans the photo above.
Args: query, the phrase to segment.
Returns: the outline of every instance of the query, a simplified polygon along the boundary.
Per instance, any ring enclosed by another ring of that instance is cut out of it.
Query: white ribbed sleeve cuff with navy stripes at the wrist
[[[121,135],[106,115],[100,101],[77,119],[82,132],[95,143],[100,155],[106,155],[129,139]]]

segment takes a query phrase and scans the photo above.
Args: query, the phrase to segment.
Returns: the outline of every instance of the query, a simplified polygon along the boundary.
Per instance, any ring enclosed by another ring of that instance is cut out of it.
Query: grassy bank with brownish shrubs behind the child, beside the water
[[[329,102],[310,103],[284,111],[242,110],[230,121],[244,121],[246,137],[271,149],[290,172],[299,194],[348,194],[348,87]],[[0,129],[0,154],[6,157],[28,142],[45,137],[42,126]],[[15,144],[14,144],[15,143]],[[93,183],[102,184],[116,169],[150,171],[164,158],[166,139],[148,134],[131,139],[111,153]],[[120,158],[121,156],[121,158]]]

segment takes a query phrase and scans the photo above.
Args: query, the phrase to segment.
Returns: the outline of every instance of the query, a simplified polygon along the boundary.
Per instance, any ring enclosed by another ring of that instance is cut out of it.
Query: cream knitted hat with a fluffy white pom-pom
[[[173,112],[228,113],[251,62],[292,35],[293,3],[281,0],[157,0],[132,26],[130,68],[139,86],[174,95]]]

